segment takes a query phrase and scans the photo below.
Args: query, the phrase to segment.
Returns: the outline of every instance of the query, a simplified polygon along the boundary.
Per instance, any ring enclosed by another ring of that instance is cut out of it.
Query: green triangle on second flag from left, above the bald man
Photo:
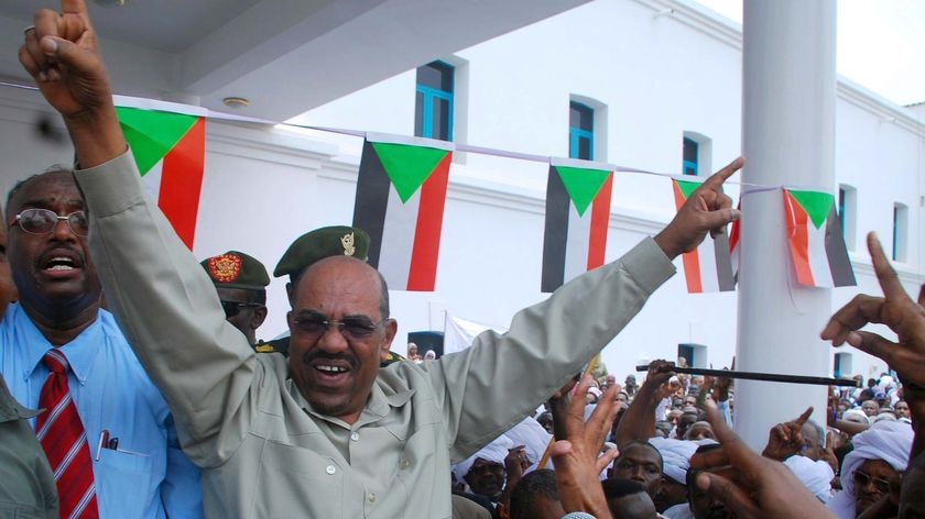
[[[412,146],[410,144],[372,143],[385,175],[395,186],[402,203],[407,202],[415,191],[434,173],[437,164],[444,159],[446,150]]]

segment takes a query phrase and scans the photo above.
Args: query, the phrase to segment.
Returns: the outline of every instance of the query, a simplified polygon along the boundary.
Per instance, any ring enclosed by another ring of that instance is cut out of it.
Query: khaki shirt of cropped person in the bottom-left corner
[[[0,376],[0,518],[57,519],[52,467],[29,419],[39,411],[22,407]]]

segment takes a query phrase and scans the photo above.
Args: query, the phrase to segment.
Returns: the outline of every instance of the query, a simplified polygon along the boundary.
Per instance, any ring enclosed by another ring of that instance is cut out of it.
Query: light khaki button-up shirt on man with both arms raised
[[[651,239],[439,361],[380,368],[347,424],[315,412],[281,354],[255,354],[148,200],[130,154],[78,172],[113,313],[160,386],[221,518],[449,518],[451,461],[522,420],[674,274]],[[503,396],[503,397],[501,397]]]

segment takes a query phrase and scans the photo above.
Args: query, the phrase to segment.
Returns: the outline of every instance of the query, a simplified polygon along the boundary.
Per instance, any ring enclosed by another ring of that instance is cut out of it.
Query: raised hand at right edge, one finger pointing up
[[[848,344],[878,356],[896,371],[904,384],[925,387],[925,308],[903,290],[874,233],[868,234],[873,270],[884,297],[856,296],[841,307],[823,330],[821,338],[834,346]],[[896,332],[899,343],[877,333],[859,331],[867,323],[882,323]]]

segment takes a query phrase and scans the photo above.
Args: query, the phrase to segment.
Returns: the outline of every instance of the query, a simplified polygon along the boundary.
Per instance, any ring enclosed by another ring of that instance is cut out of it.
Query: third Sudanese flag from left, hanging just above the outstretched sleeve
[[[612,190],[613,173],[602,164],[549,162],[542,291],[603,265]]]

